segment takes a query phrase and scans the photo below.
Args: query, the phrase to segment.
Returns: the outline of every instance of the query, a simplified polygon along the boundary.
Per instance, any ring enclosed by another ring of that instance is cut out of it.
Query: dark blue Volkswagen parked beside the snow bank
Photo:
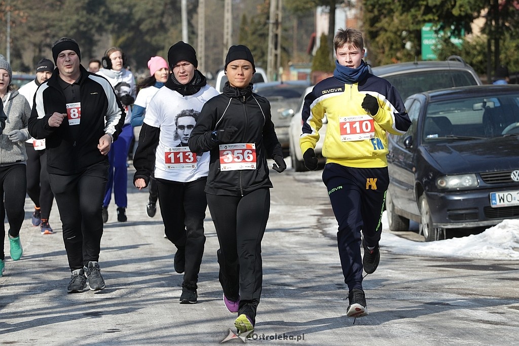
[[[411,127],[389,135],[390,230],[414,220],[432,241],[519,218],[519,86],[421,92],[405,106]]]

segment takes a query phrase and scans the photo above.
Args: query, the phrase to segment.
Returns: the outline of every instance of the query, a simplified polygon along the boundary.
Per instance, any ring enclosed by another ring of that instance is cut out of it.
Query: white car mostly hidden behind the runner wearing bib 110
[[[299,146],[299,137],[301,137],[302,128],[303,128],[303,118],[302,118],[302,111],[303,111],[303,104],[305,103],[305,96],[312,91],[313,87],[308,87],[305,89],[305,92],[303,92],[303,95],[301,98],[299,98],[299,101],[297,103],[297,108],[294,112],[294,116],[290,120],[290,126],[289,126],[289,149],[290,149],[290,159],[292,161],[292,168],[296,172],[303,172],[307,171],[305,167],[305,161],[303,160],[303,153],[301,153],[301,146]],[[323,119],[323,126],[319,129],[319,141],[316,144],[315,149],[313,149],[316,153],[316,157],[318,158],[318,162],[320,164],[324,163],[326,161],[326,158],[322,156],[322,147],[324,143],[324,135],[326,134],[326,126],[327,126],[327,119],[326,116]]]

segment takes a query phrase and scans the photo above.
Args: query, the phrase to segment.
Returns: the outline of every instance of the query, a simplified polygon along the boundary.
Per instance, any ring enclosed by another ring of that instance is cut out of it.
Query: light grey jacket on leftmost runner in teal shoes
[[[23,141],[30,137],[27,130],[27,122],[31,115],[31,106],[18,91],[8,92],[3,103],[3,111],[7,115],[7,120],[5,129],[0,134],[0,166],[25,163],[27,154]],[[22,134],[25,136],[22,142],[11,142],[8,133],[12,130],[22,131]]]

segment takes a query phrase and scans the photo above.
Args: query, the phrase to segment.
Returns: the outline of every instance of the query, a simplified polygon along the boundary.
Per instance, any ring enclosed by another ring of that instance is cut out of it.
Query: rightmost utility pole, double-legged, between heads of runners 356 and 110
[[[270,0],[267,51],[267,77],[269,80],[280,79],[278,72],[281,66],[281,8],[282,0]]]

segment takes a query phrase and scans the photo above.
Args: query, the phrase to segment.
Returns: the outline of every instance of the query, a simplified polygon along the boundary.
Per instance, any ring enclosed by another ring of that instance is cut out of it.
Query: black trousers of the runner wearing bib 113
[[[156,179],[156,182],[164,233],[176,248],[185,248],[182,287],[196,289],[206,244],[203,220],[206,218],[207,199],[203,189],[207,177],[188,183],[166,179]]]

